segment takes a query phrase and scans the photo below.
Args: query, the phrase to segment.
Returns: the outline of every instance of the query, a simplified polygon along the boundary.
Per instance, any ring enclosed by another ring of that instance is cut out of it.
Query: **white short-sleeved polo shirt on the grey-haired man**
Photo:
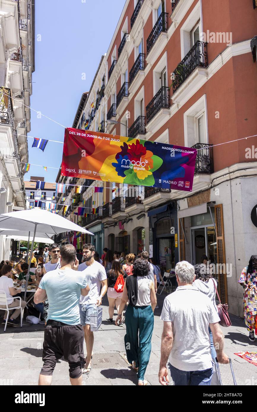
[[[179,286],[163,303],[160,319],[173,322],[173,345],[169,361],[184,371],[212,368],[210,323],[219,316],[209,297],[195,286]]]

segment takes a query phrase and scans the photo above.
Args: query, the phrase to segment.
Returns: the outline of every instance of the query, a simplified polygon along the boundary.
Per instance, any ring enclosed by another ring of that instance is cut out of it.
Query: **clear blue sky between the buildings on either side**
[[[32,76],[31,108],[71,127],[85,91],[89,91],[101,55],[111,42],[125,0],[39,0],[35,2],[35,72]],[[37,41],[37,35],[41,41]],[[82,80],[82,73],[86,80]],[[28,136],[64,140],[64,128],[31,110]],[[48,166],[47,172],[31,165],[24,179],[43,176],[55,182],[61,165],[60,143],[48,142],[42,150],[31,147],[28,161]]]

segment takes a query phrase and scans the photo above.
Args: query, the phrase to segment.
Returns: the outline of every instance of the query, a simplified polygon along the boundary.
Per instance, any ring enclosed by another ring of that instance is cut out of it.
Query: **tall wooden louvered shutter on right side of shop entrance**
[[[226,279],[226,253],[224,239],[224,222],[222,204],[215,205],[215,220],[217,231],[217,263],[219,266],[219,297],[222,303],[228,303],[228,285]]]

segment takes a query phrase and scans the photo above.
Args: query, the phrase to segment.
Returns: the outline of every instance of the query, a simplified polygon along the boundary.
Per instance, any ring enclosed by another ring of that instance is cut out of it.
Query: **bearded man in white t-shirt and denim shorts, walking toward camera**
[[[91,243],[85,244],[83,246],[83,263],[78,266],[78,270],[87,276],[87,284],[90,287],[90,292],[87,296],[80,296],[80,322],[85,331],[87,346],[87,358],[85,369],[83,370],[83,373],[86,375],[91,370],[91,356],[94,344],[94,333],[90,330],[90,313],[96,305],[101,305],[102,298],[108,289],[104,266],[94,260],[94,253],[94,245]]]

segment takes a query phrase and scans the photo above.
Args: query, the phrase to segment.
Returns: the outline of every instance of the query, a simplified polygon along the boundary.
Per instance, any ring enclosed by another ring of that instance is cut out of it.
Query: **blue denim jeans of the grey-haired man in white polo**
[[[213,368],[187,372],[174,368],[171,364],[169,367],[175,386],[210,386],[211,384]]]

